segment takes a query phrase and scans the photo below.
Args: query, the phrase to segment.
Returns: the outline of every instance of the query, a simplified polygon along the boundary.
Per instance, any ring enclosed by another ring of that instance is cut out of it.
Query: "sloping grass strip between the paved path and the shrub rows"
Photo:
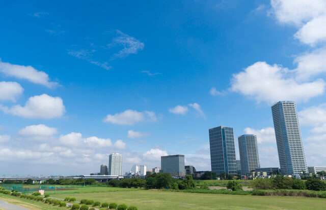
[[[53,205],[42,203],[39,201],[28,200],[28,199],[24,199],[24,198],[20,198],[20,197],[16,197],[16,196],[5,195],[2,193],[0,194],[0,199],[5,200],[8,203],[19,205],[21,207],[25,207],[25,208],[28,208],[31,210],[47,210],[47,209],[49,209],[49,210],[60,210],[61,209],[62,210],[62,209],[65,209],[63,207],[53,206]]]

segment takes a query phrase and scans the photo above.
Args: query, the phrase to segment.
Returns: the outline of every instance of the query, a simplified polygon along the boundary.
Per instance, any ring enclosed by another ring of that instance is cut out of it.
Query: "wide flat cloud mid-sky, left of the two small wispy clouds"
[[[155,122],[156,120],[157,119],[154,112],[137,112],[135,110],[126,110],[122,113],[116,113],[115,115],[107,115],[103,121],[118,125],[133,125],[138,122]]]

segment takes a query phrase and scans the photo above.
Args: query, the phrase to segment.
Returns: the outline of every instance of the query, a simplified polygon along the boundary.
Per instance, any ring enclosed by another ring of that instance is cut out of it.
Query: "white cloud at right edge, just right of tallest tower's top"
[[[326,103],[308,107],[298,112],[298,116],[302,125],[318,126],[326,123]]]

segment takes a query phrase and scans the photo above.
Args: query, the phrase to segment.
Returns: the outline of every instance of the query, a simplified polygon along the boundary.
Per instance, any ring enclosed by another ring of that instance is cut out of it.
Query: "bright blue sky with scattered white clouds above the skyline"
[[[88,174],[123,154],[210,170],[208,129],[256,134],[279,166],[270,106],[295,100],[309,166],[326,164],[326,2],[1,3],[3,174]]]

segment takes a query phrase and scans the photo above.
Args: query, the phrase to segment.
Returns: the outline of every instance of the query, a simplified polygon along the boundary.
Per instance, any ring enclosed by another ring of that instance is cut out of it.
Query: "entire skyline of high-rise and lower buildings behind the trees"
[[[243,134],[238,136],[240,160],[236,160],[234,134],[232,127],[219,126],[210,128],[209,148],[211,172],[217,175],[228,173],[241,176],[241,179],[268,178],[276,174],[298,176],[304,172],[317,174],[326,171],[326,167],[307,167],[306,156],[294,101],[279,101],[271,107],[276,144],[281,168],[260,167],[257,136]],[[149,169],[146,165],[133,165],[126,172],[125,178],[145,178],[151,173],[167,172],[172,177],[188,175],[201,177],[205,171],[196,171],[192,165],[185,165],[184,155],[161,156],[161,167]],[[98,175],[122,176],[122,155],[113,153],[109,156],[108,167],[100,166]],[[97,175],[94,173],[94,175]]]

